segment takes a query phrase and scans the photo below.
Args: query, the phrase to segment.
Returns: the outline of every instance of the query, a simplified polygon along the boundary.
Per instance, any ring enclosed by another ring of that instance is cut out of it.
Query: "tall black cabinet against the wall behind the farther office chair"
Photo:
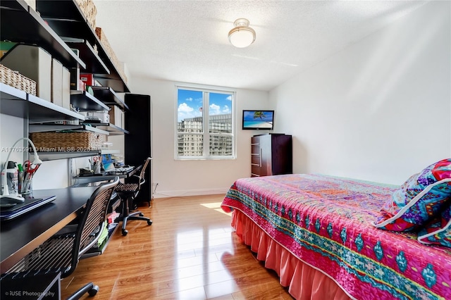
[[[152,106],[149,95],[125,94],[125,128],[130,133],[125,135],[125,163],[142,165],[147,157],[152,157]],[[144,174],[146,182],[141,187],[135,201],[149,202],[152,199],[152,161]]]

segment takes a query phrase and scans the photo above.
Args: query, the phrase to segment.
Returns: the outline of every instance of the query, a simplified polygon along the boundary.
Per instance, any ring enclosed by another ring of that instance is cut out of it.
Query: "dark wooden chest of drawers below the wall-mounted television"
[[[292,173],[291,135],[254,135],[251,147],[251,177]]]

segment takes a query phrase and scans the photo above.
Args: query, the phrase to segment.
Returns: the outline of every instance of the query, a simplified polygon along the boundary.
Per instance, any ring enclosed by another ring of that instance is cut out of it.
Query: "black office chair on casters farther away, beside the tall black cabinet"
[[[134,175],[132,177],[137,178],[137,183],[121,183],[116,186],[116,194],[118,194],[119,198],[121,198],[121,215],[119,218],[116,218],[116,222],[122,221],[122,235],[127,235],[128,231],[125,230],[127,226],[128,220],[143,220],[147,221],[147,225],[152,225],[152,220],[144,217],[144,215],[140,211],[135,211],[130,213],[130,206],[133,205],[133,200],[140,193],[141,186],[146,182],[144,174],[146,173],[147,165],[152,158],[146,158],[144,161],[144,165],[142,165],[140,175]]]

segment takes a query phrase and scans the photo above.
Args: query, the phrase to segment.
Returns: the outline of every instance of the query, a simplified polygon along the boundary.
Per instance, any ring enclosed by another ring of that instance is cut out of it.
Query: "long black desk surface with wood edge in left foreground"
[[[0,271],[5,273],[25,255],[74,220],[97,187],[40,189],[33,196],[56,199],[34,211],[0,224]]]

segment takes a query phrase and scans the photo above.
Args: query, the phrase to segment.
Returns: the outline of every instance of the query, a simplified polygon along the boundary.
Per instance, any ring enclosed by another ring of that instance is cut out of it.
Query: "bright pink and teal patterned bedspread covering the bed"
[[[356,299],[451,299],[451,249],[371,223],[393,185],[324,175],[237,180],[223,200]]]

